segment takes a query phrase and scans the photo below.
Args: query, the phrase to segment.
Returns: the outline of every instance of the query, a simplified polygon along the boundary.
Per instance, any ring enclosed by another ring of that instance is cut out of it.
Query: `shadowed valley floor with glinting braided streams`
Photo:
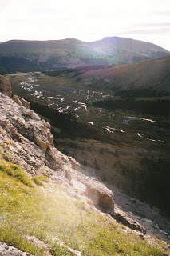
[[[116,109],[95,106],[107,99],[118,101],[121,96],[105,87],[102,90],[100,81],[98,90],[96,84],[93,88],[83,83],[77,72],[61,71],[53,77],[40,72],[17,73],[8,77],[14,94],[48,107],[46,114],[43,110],[38,113],[47,121],[51,122],[48,111],[57,110],[66,116],[71,114],[78,123],[84,124],[83,129],[87,130],[84,138],[78,135],[78,127],[70,135],[55,124],[54,142],[59,150],[94,168],[103,181],[169,213],[168,115],[120,106]],[[161,105],[164,100],[168,101],[168,96],[140,95],[140,102],[160,102]],[[34,104],[33,107],[39,110]]]

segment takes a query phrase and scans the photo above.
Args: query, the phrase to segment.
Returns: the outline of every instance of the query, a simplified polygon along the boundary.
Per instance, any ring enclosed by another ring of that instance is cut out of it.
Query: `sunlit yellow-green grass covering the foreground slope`
[[[45,251],[27,241],[24,234],[45,242],[52,255],[71,255],[53,238],[81,250],[85,256],[164,255],[163,250],[135,235],[124,234],[117,222],[106,222],[104,216],[89,210],[83,202],[67,197],[61,186],[45,182],[45,191],[29,186],[9,174],[13,164],[3,160],[0,164],[0,241],[33,255],[45,255]]]

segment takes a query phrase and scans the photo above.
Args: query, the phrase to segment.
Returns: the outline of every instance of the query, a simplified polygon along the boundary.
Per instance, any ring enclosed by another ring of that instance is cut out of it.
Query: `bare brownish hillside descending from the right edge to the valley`
[[[169,92],[170,57],[84,70],[81,71],[80,78],[81,82],[102,90]]]

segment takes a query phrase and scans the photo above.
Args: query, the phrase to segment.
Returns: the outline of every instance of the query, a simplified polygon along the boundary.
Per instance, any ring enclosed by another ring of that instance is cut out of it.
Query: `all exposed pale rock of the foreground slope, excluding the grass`
[[[69,197],[85,202],[86,206],[104,214],[105,218],[115,218],[123,223],[126,234],[137,234],[153,244],[152,236],[157,236],[167,241],[168,248],[169,237],[166,232],[146,216],[141,218],[130,212],[134,202],[125,202],[129,198],[125,198],[121,191],[113,186],[108,188],[107,184],[100,182],[93,170],[81,166],[74,158],[61,154],[54,147],[50,124],[30,110],[30,103],[23,98],[16,95],[10,98],[10,82],[1,76],[0,91],[0,150],[6,161],[21,166],[29,177],[45,175],[61,184]],[[117,196],[116,206],[113,191]],[[126,212],[123,211],[125,205]],[[140,202],[136,201],[136,206],[139,205]],[[30,254],[0,242],[0,255]],[[74,255],[81,254],[75,252]]]

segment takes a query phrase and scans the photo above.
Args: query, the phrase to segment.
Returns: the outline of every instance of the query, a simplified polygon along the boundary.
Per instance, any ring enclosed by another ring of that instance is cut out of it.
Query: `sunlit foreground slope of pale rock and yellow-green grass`
[[[57,150],[49,123],[0,82],[0,255],[168,255],[168,234],[115,205],[109,185]]]

